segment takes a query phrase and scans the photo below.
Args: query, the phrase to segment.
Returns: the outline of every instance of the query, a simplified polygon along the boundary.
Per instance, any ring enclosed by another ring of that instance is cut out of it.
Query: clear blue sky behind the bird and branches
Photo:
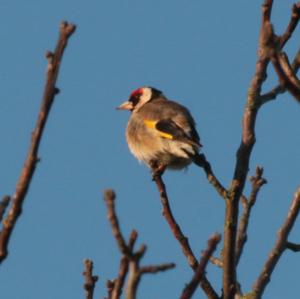
[[[148,169],[127,149],[129,115],[114,108],[143,85],[180,101],[197,121],[215,173],[229,184],[255,69],[261,2],[1,0],[2,195],[13,193],[27,153],[43,92],[44,53],[54,48],[62,20],[78,26],[63,60],[61,93],[40,148],[42,162],[0,268],[3,298],[83,298],[85,258],[93,259],[100,276],[96,298],[106,295],[106,279],[116,276],[120,258],[102,200],[108,187],[117,192],[124,234],[136,228],[139,244],[148,245],[143,264],[177,264],[170,272],[144,277],[139,298],[179,297],[192,271],[161,215]],[[275,1],[279,33],[292,3]],[[289,43],[289,55],[297,44],[296,39]],[[276,77],[268,82],[266,88],[274,86]],[[300,106],[285,94],[258,116],[250,173],[264,166],[269,183],[253,210],[238,269],[244,291],[261,271],[300,182],[299,113]],[[174,214],[199,255],[207,238],[223,230],[224,203],[195,166],[169,172],[165,181]],[[300,241],[299,229],[298,221],[291,241]],[[284,254],[264,298],[295,298],[299,269],[299,255]],[[209,265],[208,277],[219,291],[219,269]],[[204,298],[200,290],[197,296]]]

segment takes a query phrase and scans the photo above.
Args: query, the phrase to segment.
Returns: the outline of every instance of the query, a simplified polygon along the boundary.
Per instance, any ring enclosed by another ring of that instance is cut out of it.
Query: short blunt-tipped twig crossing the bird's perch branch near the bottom
[[[190,283],[187,284],[187,286],[184,288],[183,293],[181,295],[181,299],[189,299],[194,294],[197,285],[199,282],[203,279],[205,275],[205,269],[207,266],[207,263],[213,254],[213,252],[216,250],[217,244],[221,241],[221,235],[220,234],[214,234],[212,237],[209,238],[207,249],[202,253],[199,265],[197,267],[197,270],[195,271],[195,274],[190,281]]]

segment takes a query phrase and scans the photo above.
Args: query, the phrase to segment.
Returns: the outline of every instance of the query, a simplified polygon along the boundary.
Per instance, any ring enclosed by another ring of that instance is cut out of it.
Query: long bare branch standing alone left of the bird
[[[54,97],[59,92],[56,87],[56,80],[61,65],[64,50],[67,46],[70,36],[75,31],[75,25],[63,22],[60,26],[60,35],[54,53],[47,53],[48,68],[47,79],[44,90],[44,96],[37,123],[31,136],[31,144],[21,171],[20,178],[17,182],[15,194],[12,196],[12,205],[7,217],[3,221],[3,227],[0,232],[0,263],[7,257],[8,243],[15,227],[15,224],[22,213],[22,206],[29,189],[36,165],[39,161],[38,149],[44,132],[44,127],[52,107]]]

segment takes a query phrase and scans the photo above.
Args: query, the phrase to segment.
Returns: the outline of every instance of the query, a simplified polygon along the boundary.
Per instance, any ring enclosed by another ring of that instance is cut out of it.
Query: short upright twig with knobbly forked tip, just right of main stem
[[[244,207],[244,212],[240,219],[239,228],[237,231],[237,240],[236,240],[236,264],[239,263],[240,257],[243,252],[244,245],[247,241],[247,228],[249,223],[249,218],[251,214],[251,209],[254,206],[257,198],[257,194],[260,188],[267,183],[266,179],[262,177],[263,168],[257,167],[255,176],[250,178],[252,182],[252,191],[249,197],[249,201]]]

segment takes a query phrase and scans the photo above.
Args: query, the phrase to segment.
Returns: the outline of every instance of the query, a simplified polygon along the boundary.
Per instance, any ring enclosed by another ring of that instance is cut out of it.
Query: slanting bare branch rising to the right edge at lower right
[[[273,270],[277,265],[282,253],[284,252],[285,249],[288,248],[287,238],[299,214],[299,210],[300,210],[300,188],[296,191],[294,195],[294,199],[292,201],[285,222],[283,223],[283,225],[278,231],[278,238],[276,240],[276,243],[273,249],[271,250],[265,265],[263,266],[263,270],[261,274],[259,275],[258,279],[256,280],[253,286],[253,294],[255,294],[255,296],[253,297],[254,299],[261,298],[267,284],[270,281]]]

